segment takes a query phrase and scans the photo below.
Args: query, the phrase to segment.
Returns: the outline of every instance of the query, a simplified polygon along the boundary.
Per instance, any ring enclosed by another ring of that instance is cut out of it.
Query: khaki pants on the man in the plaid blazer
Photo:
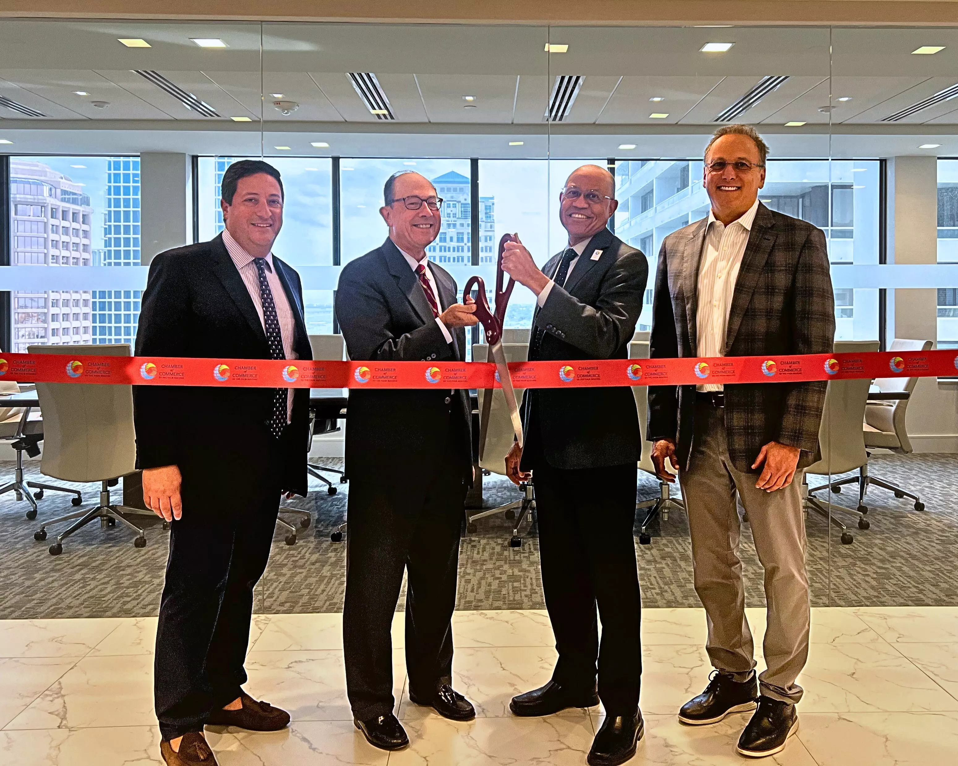
[[[724,410],[696,402],[695,422],[689,469],[680,472],[679,482],[692,533],[696,593],[708,618],[709,659],[738,681],[755,667],[738,555],[738,491],[765,572],[768,626],[763,649],[768,669],[759,676],[761,692],[797,703],[802,687],[795,679],[808,660],[810,620],[801,473],[775,492],[757,489],[758,474],[740,471],[729,458]]]

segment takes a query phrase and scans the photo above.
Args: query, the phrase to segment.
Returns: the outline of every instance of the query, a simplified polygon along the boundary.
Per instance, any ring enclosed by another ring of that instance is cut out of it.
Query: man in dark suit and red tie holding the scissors
[[[389,238],[344,266],[336,290],[350,359],[465,360],[475,305],[456,303],[456,282],[425,253],[439,234],[443,200],[412,171],[390,177],[383,197],[379,213]],[[409,742],[393,714],[390,634],[403,571],[409,698],[452,720],[475,715],[451,687],[450,620],[472,479],[470,414],[468,392],[441,381],[427,389],[350,393],[346,686],[356,728],[383,750]]]

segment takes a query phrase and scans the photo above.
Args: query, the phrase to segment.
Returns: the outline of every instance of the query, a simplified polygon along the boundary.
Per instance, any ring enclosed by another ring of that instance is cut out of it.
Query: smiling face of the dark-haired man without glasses
[[[265,258],[283,228],[283,192],[266,173],[240,178],[233,203],[219,201],[226,231],[254,258]]]

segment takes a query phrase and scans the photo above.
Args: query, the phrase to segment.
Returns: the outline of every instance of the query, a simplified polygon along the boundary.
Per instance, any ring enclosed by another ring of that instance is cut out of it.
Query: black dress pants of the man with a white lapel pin
[[[533,481],[542,589],[559,652],[553,680],[591,693],[598,660],[605,711],[634,712],[642,677],[635,463],[562,470],[538,459]]]

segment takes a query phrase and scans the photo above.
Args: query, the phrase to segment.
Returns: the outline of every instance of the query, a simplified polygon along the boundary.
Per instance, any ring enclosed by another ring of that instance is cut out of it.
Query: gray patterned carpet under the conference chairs
[[[38,478],[39,463],[28,465],[30,477]],[[823,518],[810,514],[812,603],[958,604],[958,455],[874,457],[871,472],[919,488],[927,510],[915,511],[907,500],[873,489],[868,501],[871,529],[860,531],[853,520],[846,522],[855,534],[853,545],[841,545],[837,531],[830,531]],[[12,464],[0,462],[0,484],[6,483],[11,473]],[[818,477],[811,477],[811,483],[818,484]],[[96,485],[78,487],[84,491],[84,500],[96,497]],[[349,485],[341,486],[333,497],[318,483],[312,488],[316,491],[307,499],[290,505],[312,512],[313,526],[292,547],[284,544],[282,535],[276,536],[269,567],[258,587],[259,612],[335,612],[342,608],[346,549],[341,543],[331,543],[329,535],[342,520]],[[485,489],[487,507],[518,497],[513,486],[498,477],[487,477]],[[650,477],[640,478],[640,498],[652,497],[657,491]],[[833,500],[854,504],[848,492],[833,495]],[[48,492],[40,502],[40,517],[69,512],[73,509],[69,503],[68,496]],[[0,619],[156,614],[168,532],[150,523],[148,546],[137,550],[125,529],[91,525],[64,544],[62,555],[53,557],[47,552],[49,542],[34,542],[36,522],[24,518],[26,509],[27,504],[15,503],[12,494],[0,496]],[[465,535],[462,541],[458,608],[543,608],[535,526],[523,532],[522,547],[514,549],[508,545],[509,522],[493,517],[478,524],[478,532]],[[698,606],[685,514],[673,511],[668,522],[656,523],[650,531],[652,544],[636,545],[645,605]],[[590,533],[603,534],[601,519],[596,519]],[[762,605],[763,571],[747,524],[741,559],[748,603]]]

